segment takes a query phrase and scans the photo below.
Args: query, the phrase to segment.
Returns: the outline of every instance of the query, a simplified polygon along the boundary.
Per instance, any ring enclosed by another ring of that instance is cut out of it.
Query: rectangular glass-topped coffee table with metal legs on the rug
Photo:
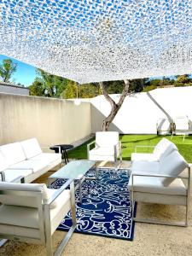
[[[49,176],[49,180],[57,178],[66,178],[78,180],[79,184],[76,186],[76,189],[79,188],[79,202],[82,203],[82,183],[84,179],[96,179],[97,177],[97,168],[96,168],[96,177],[85,177],[85,173],[90,170],[91,167],[96,166],[96,161],[90,160],[75,160],[69,162],[66,166],[61,167],[60,170],[53,173]],[[49,181],[50,183],[50,181]]]

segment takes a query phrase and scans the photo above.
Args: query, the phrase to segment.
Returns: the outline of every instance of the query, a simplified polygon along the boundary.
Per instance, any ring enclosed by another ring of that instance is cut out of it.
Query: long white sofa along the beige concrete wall
[[[43,153],[36,138],[0,146],[0,181],[31,183],[59,164],[61,154]]]

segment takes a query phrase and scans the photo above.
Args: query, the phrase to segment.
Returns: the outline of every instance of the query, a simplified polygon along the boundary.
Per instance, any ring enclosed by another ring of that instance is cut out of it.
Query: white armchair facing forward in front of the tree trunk
[[[90,149],[90,145],[95,143],[95,148]],[[113,161],[115,168],[118,168],[122,161],[121,143],[119,132],[117,131],[97,131],[96,141],[87,145],[88,160]]]

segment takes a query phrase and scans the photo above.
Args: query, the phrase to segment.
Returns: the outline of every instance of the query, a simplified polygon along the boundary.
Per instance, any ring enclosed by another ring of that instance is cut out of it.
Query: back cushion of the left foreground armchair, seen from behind
[[[0,191],[3,189],[24,191],[22,195],[1,195],[0,202],[5,205],[20,206],[20,207],[38,207],[36,195],[26,195],[26,191],[41,192],[42,201],[48,199],[48,189],[45,184],[36,183],[0,183]]]

